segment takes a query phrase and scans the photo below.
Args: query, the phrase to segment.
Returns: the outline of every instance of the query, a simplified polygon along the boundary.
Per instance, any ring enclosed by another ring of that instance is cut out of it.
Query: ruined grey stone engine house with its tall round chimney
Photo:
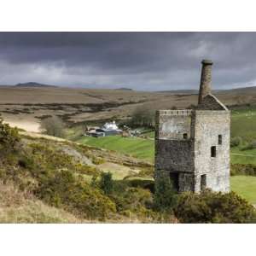
[[[156,113],[155,178],[178,192],[230,191],[230,111],[211,93],[212,61],[201,61],[195,109]]]

